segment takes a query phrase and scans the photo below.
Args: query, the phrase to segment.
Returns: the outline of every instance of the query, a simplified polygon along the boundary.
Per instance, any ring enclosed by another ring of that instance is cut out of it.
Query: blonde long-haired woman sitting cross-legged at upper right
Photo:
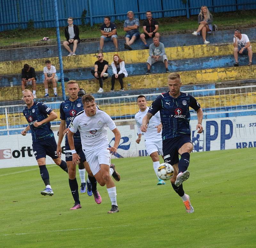
[[[212,14],[208,10],[208,8],[203,5],[201,7],[200,13],[198,15],[198,28],[195,32],[192,33],[192,35],[201,35],[204,41],[204,44],[209,44],[210,41],[206,40],[206,33],[211,34],[212,33]]]

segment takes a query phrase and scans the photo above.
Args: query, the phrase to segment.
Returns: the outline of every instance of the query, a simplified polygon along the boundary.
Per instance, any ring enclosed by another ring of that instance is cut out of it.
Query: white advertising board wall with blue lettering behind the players
[[[240,112],[206,115],[203,120],[204,132],[196,131],[197,119],[190,121],[193,152],[227,150],[256,147],[255,111],[248,116],[240,116]],[[219,116],[219,117],[217,117]],[[220,117],[221,116],[221,117]],[[120,125],[121,140],[115,156],[112,158],[147,156],[144,139],[137,144],[137,127],[134,124]],[[54,132],[57,141],[57,132]],[[114,135],[108,130],[109,144],[114,144]],[[65,149],[64,140],[61,144]],[[64,153],[63,153],[64,159]],[[54,164],[47,156],[46,164]],[[0,136],[0,168],[36,165],[32,151],[31,134]]]

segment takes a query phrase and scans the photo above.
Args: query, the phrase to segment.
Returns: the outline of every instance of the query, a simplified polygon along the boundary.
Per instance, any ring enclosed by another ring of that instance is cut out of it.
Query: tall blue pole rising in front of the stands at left
[[[62,54],[61,54],[61,44],[60,44],[60,28],[59,28],[57,0],[54,0],[54,13],[55,13],[59,64],[60,64],[61,91],[62,91],[62,99],[64,101],[64,100],[66,100],[66,94],[65,94],[64,73],[63,73]]]

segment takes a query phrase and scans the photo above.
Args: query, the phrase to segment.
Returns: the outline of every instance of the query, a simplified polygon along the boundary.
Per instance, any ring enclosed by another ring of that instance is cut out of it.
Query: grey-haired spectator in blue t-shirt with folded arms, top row
[[[140,38],[140,22],[138,18],[134,18],[132,11],[127,12],[127,17],[128,20],[124,21],[124,31],[126,31],[124,49],[132,50],[130,45]]]

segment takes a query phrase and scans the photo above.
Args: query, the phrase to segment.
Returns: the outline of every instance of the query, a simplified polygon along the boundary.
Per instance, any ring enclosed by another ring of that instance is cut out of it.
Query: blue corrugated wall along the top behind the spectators
[[[53,14],[53,3],[57,1],[59,24],[66,26],[66,19],[69,16],[74,17],[78,25],[81,25],[82,12],[85,24],[101,23],[102,17],[109,15],[112,20],[125,20],[128,10],[135,13],[135,17],[139,19],[145,18],[145,12],[149,9],[154,12],[155,18],[171,17],[171,16],[187,16],[197,15],[200,7],[207,5],[211,12],[229,12],[237,10],[256,9],[254,0],[228,0],[225,4],[222,0],[0,0],[0,31],[27,28],[28,22],[33,21],[35,28],[52,28],[55,27]],[[91,14],[90,14],[91,6]],[[100,6],[100,8],[99,8]]]

